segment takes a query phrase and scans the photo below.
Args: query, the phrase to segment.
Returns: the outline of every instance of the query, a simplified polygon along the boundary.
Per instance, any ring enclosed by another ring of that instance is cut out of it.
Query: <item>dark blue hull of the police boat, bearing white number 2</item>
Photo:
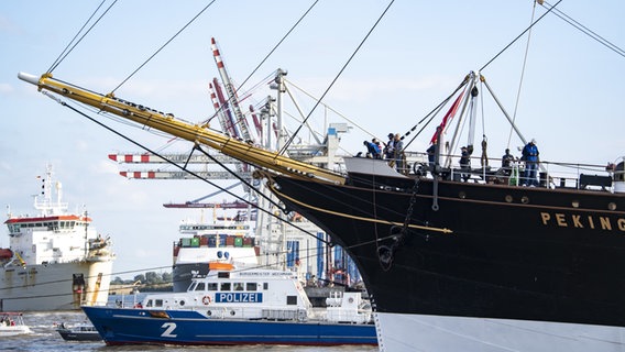
[[[83,310],[109,345],[377,344],[374,324],[210,319],[190,310]]]

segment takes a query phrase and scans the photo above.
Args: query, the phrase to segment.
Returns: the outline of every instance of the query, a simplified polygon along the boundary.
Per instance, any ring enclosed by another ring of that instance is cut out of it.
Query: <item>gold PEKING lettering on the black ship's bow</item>
[[[623,218],[613,219],[604,216],[540,212],[540,219],[544,226],[625,232],[625,219]]]

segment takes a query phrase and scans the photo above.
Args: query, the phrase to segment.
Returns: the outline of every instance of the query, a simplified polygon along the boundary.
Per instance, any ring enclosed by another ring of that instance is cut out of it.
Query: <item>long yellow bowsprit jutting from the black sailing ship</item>
[[[52,91],[177,138],[207,145],[226,155],[259,167],[298,178],[315,178],[319,182],[341,185],[346,183],[344,176],[329,169],[294,161],[276,152],[271,152],[224,134],[209,131],[208,125],[191,124],[175,119],[172,114],[166,114],[141,105],[116,98],[112,94],[105,96],[73,86],[53,78],[52,74],[44,74],[41,77],[36,77],[34,75],[20,73],[18,77],[37,86],[40,91],[42,89]]]

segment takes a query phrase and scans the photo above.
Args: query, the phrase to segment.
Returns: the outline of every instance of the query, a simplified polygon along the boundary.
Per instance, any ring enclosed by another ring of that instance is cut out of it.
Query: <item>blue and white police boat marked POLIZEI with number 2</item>
[[[377,343],[361,293],[328,298],[315,309],[296,273],[210,262],[186,293],[147,295],[132,308],[84,307],[108,345]]]

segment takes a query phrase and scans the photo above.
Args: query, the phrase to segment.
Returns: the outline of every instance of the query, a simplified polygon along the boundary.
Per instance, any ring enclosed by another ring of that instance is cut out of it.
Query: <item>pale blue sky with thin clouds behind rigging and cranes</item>
[[[215,112],[207,85],[219,77],[210,38],[217,40],[239,86],[314,2],[217,0],[207,7],[210,2],[195,0],[118,1],[53,75],[102,94],[119,86],[119,98],[187,121],[204,121]],[[530,0],[397,0],[357,52],[388,3],[318,1],[241,88],[251,95],[244,106],[271,94],[253,88],[277,68],[285,69],[289,81],[312,96],[327,91],[324,102],[340,114],[317,109],[311,116],[314,127],[321,131],[328,122],[349,122],[354,128],[342,135],[341,146],[355,154],[363,148],[362,140],[385,140],[388,132],[408,131],[469,72],[482,68],[513,42],[533,15],[538,19],[546,12]],[[32,195],[40,188],[35,177],[53,164],[64,185],[64,199],[74,209],[86,207],[98,231],[113,239],[118,255],[113,276],[169,272],[180,220],[210,215],[167,209],[163,204],[197,199],[216,188],[199,180],[119,176],[129,167],[107,155],[143,152],[140,147],[64,109],[17,77],[19,72],[48,70],[98,6],[99,0],[0,3],[0,202],[13,213],[32,215]],[[557,9],[625,47],[625,2],[563,0]],[[515,116],[525,138],[538,141],[542,160],[604,165],[625,155],[622,53],[549,13],[531,29],[529,38],[526,33],[481,73],[506,111]],[[307,113],[315,103],[300,98]],[[523,145],[518,138],[509,139],[509,124],[501,113],[484,112],[480,119],[489,121],[480,123],[479,135],[487,136],[491,156]],[[187,142],[102,121],[150,148],[189,152]],[[434,125],[427,128],[410,150],[425,151],[434,130]],[[211,200],[222,198],[231,199]],[[8,245],[4,229],[0,246]]]

